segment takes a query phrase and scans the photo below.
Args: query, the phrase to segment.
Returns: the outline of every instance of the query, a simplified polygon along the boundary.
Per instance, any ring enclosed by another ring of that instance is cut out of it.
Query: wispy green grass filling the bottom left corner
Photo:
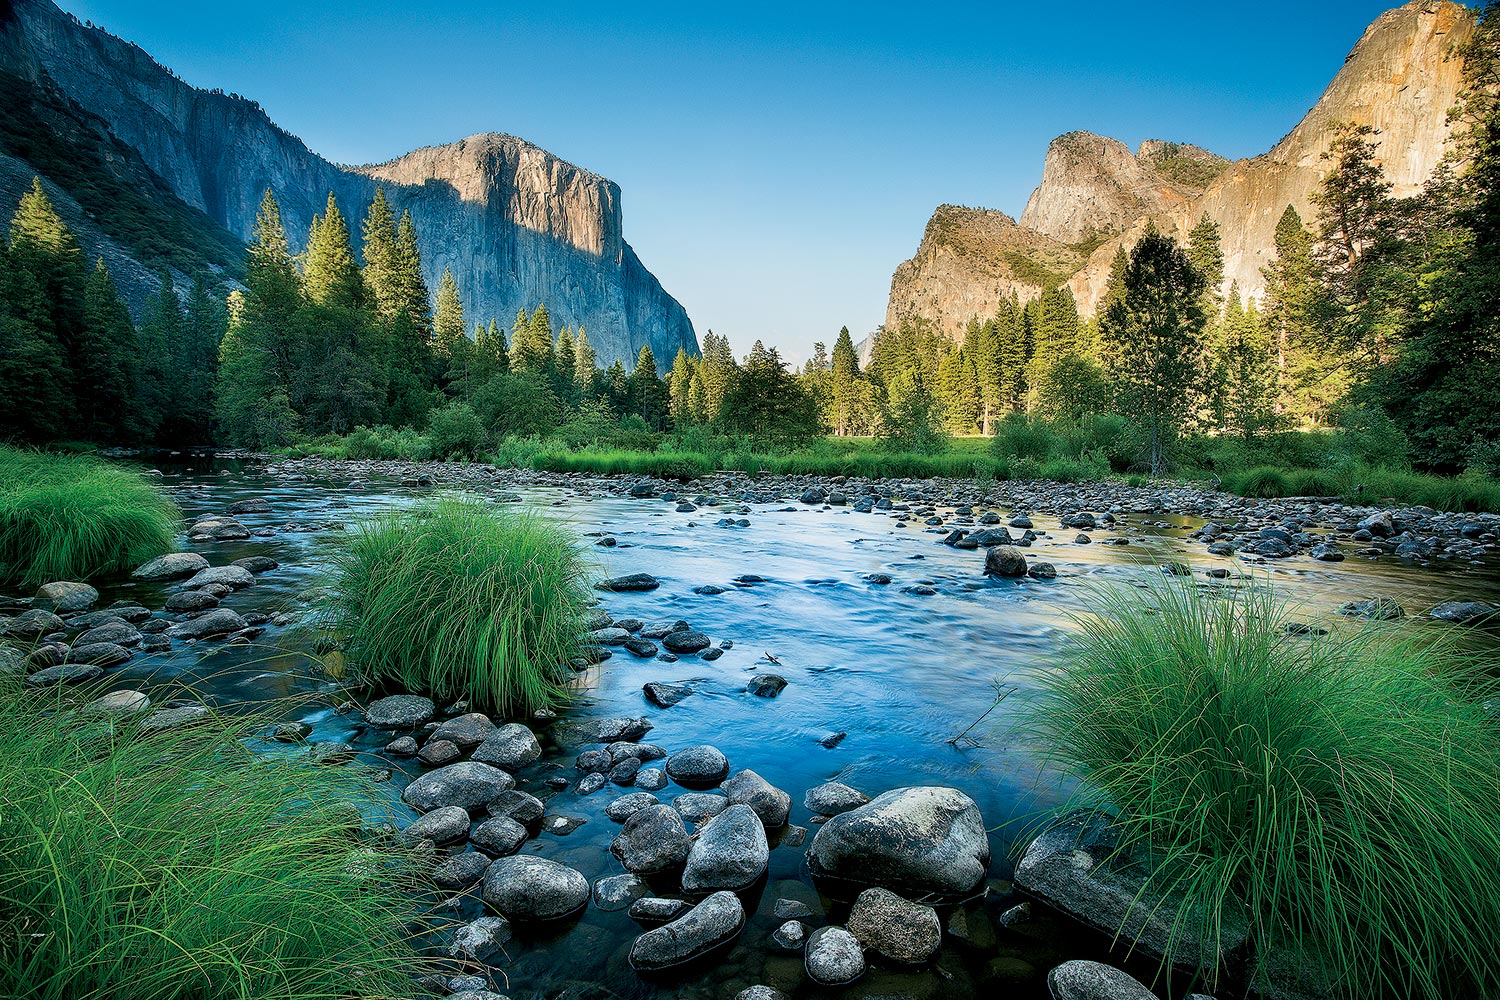
[[[254,718],[146,735],[0,688],[0,996],[405,997],[422,870],[352,769],[252,754]]]

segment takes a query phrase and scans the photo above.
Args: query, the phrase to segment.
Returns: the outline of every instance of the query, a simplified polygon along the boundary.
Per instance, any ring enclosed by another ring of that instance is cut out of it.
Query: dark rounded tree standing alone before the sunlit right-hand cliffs
[[[1148,226],[1131,250],[1124,295],[1101,319],[1122,409],[1146,439],[1152,474],[1167,469],[1173,441],[1191,415],[1204,288],[1182,247]]]

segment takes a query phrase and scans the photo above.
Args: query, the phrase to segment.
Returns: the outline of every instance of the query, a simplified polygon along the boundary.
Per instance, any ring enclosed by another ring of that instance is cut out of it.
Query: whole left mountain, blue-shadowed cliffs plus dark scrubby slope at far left
[[[486,133],[338,166],[254,100],[189,87],[48,0],[0,0],[0,105],[3,204],[40,175],[136,307],[162,267],[238,277],[267,187],[300,241],[330,190],[357,220],[384,186],[412,213],[429,285],[453,268],[471,318],[508,325],[546,303],[555,325],[588,330],[602,364],[633,363],[645,345],[663,364],[698,352],[682,306],[624,240],[620,187],[525,139]]]

